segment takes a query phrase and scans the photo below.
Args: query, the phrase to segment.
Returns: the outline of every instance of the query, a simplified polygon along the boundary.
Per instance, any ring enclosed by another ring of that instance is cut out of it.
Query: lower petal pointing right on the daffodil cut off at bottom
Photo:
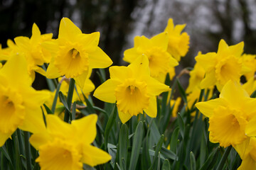
[[[93,147],[91,145],[85,145],[82,149],[82,159],[81,161],[90,166],[96,166],[97,164],[104,164],[109,162],[111,159],[110,154],[102,149]]]

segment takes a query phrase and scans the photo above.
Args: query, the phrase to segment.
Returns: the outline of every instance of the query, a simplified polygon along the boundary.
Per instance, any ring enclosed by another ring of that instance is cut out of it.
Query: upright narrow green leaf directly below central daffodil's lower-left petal
[[[119,132],[119,165],[123,170],[127,169],[128,135],[127,125],[122,124]]]

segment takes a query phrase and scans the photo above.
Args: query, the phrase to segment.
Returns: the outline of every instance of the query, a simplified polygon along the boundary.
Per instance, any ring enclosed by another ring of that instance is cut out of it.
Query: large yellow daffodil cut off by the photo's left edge
[[[40,132],[45,127],[40,106],[45,91],[31,87],[25,57],[14,55],[0,69],[0,146],[17,128]]]

